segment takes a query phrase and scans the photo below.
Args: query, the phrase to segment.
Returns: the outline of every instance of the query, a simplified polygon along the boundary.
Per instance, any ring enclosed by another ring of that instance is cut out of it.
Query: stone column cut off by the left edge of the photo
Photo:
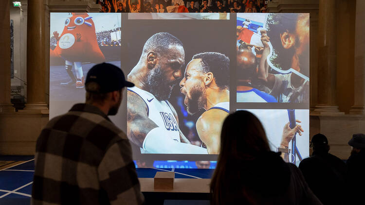
[[[10,1],[0,6],[0,113],[15,111],[10,102]]]

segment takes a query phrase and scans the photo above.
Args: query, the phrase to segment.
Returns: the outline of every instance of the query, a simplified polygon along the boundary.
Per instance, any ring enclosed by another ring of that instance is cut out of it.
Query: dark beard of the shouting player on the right
[[[200,109],[204,108],[204,104],[206,103],[205,89],[201,85],[196,84],[190,89],[190,98],[187,97],[187,95],[186,98],[187,98],[187,105],[186,105],[187,112],[190,115],[194,115]]]

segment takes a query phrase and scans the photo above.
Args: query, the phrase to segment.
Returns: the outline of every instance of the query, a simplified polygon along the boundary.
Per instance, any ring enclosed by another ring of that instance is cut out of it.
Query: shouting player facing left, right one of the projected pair
[[[208,153],[219,154],[220,131],[229,114],[229,58],[218,52],[194,55],[180,86],[189,114],[205,110],[196,122],[197,132]]]

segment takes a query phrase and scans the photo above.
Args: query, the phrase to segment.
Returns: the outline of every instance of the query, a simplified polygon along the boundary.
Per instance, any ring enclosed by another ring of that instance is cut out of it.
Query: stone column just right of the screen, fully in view
[[[339,114],[336,106],[336,1],[319,0],[318,99],[315,112]],[[341,113],[343,114],[343,113]]]

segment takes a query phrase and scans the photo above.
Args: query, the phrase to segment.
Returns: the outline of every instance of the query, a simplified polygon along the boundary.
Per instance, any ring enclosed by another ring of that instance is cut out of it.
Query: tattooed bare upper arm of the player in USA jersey
[[[146,135],[158,127],[147,116],[147,105],[136,93],[127,91],[127,136],[130,141],[142,148]]]

